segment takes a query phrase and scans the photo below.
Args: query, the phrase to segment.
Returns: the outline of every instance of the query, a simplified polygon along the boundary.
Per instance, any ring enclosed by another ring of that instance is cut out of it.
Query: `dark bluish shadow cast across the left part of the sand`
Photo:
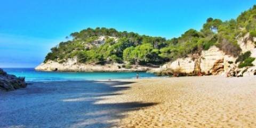
[[[0,93],[0,127],[113,127],[127,111],[154,102],[101,102],[131,89],[134,82],[34,82],[26,89]]]

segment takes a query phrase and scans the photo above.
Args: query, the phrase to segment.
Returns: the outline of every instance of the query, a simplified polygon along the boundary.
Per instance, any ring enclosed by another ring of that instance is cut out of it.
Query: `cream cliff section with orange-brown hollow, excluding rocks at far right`
[[[195,57],[195,55],[190,56]],[[228,60],[228,57],[225,57],[225,53],[219,50],[218,47],[212,46],[209,50],[202,51],[201,55],[196,58],[180,58],[166,63],[161,67],[161,71],[171,69],[173,73],[185,75],[217,75],[224,71],[224,60]],[[227,63],[226,66],[228,66]]]

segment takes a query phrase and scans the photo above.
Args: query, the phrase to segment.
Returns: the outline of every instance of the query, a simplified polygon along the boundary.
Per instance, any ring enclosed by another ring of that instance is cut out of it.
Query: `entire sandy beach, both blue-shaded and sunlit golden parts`
[[[0,92],[0,127],[256,127],[256,79],[32,82]]]

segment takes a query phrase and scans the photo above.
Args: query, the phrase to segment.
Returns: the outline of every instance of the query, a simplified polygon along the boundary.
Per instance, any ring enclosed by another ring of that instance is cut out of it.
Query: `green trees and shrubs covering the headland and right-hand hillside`
[[[200,31],[189,29],[180,37],[172,39],[117,31],[113,28],[87,28],[70,34],[73,37],[71,41],[61,42],[53,47],[46,55],[44,62],[48,60],[63,62],[68,58],[77,57],[80,63],[125,62],[135,65],[160,65],[186,57],[188,54],[208,50],[213,45],[226,54],[237,56],[241,52],[237,38],[246,33],[254,37],[255,30],[255,5],[239,15],[236,20],[221,21],[208,18]],[[101,36],[106,37],[103,43],[98,41]],[[239,56],[237,62],[244,63],[252,60],[247,57],[247,53],[243,55],[246,57]]]

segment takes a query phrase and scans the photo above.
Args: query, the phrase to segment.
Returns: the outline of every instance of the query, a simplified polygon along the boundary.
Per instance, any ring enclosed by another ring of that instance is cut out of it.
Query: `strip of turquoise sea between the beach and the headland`
[[[130,79],[135,78],[132,73],[75,73],[75,72],[47,72],[36,71],[33,68],[4,68],[8,74],[26,77],[26,81],[80,81],[80,80],[101,80],[101,79]],[[141,78],[156,77],[154,74],[140,72]]]

